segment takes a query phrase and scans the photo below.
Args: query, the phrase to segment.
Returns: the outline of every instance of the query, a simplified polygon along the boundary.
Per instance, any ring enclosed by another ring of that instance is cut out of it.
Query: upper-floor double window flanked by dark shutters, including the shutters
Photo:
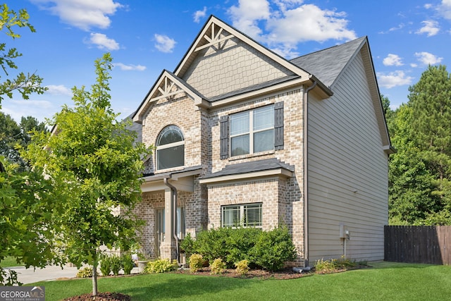
[[[283,149],[283,102],[221,117],[221,159]]]

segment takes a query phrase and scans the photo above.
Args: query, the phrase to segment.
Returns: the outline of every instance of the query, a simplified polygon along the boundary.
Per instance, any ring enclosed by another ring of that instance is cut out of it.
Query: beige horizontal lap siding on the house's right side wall
[[[339,258],[340,223],[350,231],[347,257],[383,259],[388,223],[388,156],[358,54],[333,97],[309,96],[309,261]]]

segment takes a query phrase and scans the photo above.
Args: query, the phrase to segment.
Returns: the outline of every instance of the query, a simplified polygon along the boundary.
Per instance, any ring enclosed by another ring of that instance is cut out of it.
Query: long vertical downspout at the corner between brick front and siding
[[[308,98],[309,92],[316,87],[316,80],[313,78],[313,85],[304,90],[304,266],[309,266],[309,165],[308,165]]]

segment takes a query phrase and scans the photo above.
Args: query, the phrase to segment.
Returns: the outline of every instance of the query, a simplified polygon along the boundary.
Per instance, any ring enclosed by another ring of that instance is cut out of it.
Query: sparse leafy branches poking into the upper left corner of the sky
[[[8,8],[6,4],[1,5],[0,15],[0,31],[4,30],[6,35],[12,39],[19,38],[20,35],[15,32],[16,27],[28,27],[31,32],[35,32],[35,27],[28,23],[30,16],[25,9],[21,9],[18,13]],[[6,77],[8,77],[12,70],[18,69],[15,61],[22,56],[16,48],[7,48],[5,42],[0,42],[0,66],[3,69]],[[1,82],[0,76],[0,109],[1,101],[4,97],[13,97],[13,92],[17,91],[21,94],[23,99],[28,99],[32,93],[42,94],[46,90],[42,87],[42,78],[35,73],[18,73],[14,78],[7,78]]]

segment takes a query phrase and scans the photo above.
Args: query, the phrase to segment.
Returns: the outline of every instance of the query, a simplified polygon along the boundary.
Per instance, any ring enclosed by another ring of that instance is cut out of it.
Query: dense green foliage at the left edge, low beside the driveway
[[[60,229],[54,216],[61,213],[68,191],[57,187],[67,183],[58,183],[61,177],[46,178],[42,168],[25,172],[3,156],[0,162],[5,166],[0,171],[0,262],[13,257],[27,268],[59,263]],[[13,284],[18,284],[14,273],[8,274],[0,266],[0,285]]]

